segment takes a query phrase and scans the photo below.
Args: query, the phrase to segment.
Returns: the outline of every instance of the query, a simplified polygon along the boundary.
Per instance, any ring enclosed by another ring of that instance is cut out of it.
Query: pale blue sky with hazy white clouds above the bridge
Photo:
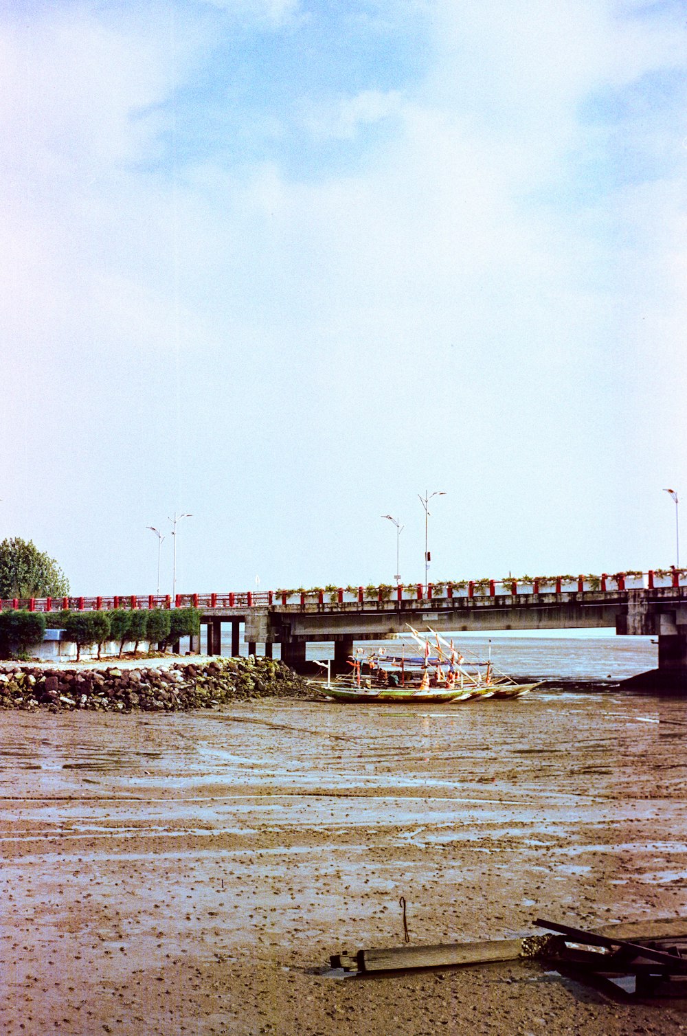
[[[0,539],[75,594],[675,562],[687,15],[7,0]],[[685,537],[687,563],[687,536]]]

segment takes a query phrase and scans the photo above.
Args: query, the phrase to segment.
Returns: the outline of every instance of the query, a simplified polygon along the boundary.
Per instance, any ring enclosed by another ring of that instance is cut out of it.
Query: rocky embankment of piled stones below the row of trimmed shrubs
[[[0,709],[179,712],[247,698],[304,696],[310,696],[306,681],[266,658],[136,669],[0,665]]]

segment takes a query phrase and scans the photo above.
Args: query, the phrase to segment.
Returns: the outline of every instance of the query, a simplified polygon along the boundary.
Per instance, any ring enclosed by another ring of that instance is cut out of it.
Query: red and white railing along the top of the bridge
[[[326,591],[222,592],[212,594],[113,595],[111,597],[11,598],[0,601],[0,610],[25,608],[28,611],[111,611],[116,608],[201,608],[220,610],[253,607],[389,603],[399,601],[436,601],[454,598],[514,597],[541,594],[622,593],[631,589],[659,589],[687,586],[687,569],[659,569],[648,572],[619,572],[600,576],[542,576],[517,579],[470,579],[455,582],[406,583],[400,586],[346,586]]]

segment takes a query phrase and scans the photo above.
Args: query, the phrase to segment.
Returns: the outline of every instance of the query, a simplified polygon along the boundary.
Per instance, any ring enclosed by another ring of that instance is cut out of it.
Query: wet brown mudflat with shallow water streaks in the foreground
[[[0,1032],[687,1032],[536,963],[330,954],[687,916],[685,706],[0,714]]]

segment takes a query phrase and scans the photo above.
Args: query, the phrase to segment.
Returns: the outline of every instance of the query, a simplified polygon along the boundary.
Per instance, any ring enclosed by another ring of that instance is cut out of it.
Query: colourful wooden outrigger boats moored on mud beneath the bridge
[[[492,665],[491,652],[486,662],[475,657],[467,659],[469,652],[458,651],[453,641],[447,641],[431,628],[425,635],[411,626],[408,629],[410,646],[421,646],[422,655],[406,654],[405,643],[400,655],[389,655],[384,648],[366,655],[364,649],[359,649],[349,659],[350,671],[318,689],[335,701],[456,704],[485,698],[519,698],[539,686],[517,684],[499,672]]]

